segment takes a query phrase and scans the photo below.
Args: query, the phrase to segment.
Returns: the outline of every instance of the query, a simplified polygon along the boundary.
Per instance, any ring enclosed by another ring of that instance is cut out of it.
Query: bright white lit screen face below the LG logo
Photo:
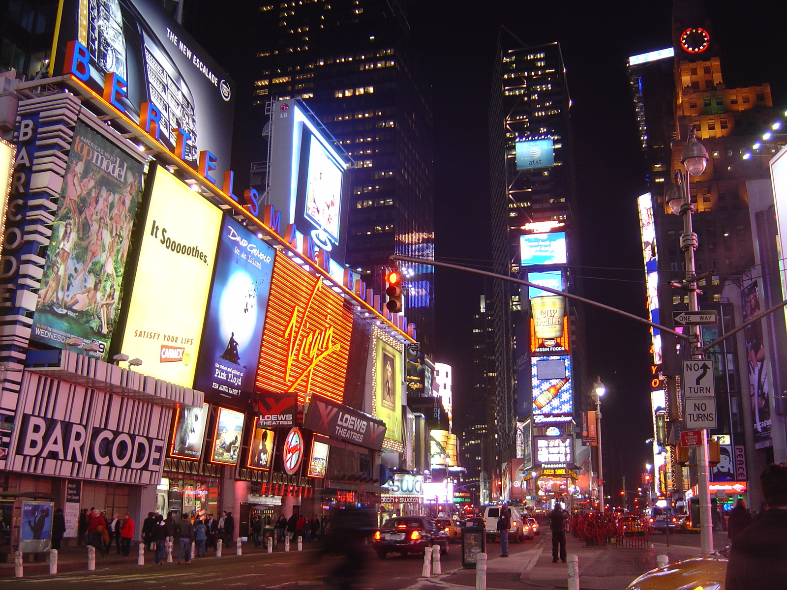
[[[342,168],[334,162],[314,135],[309,136],[309,171],[306,178],[305,217],[331,242],[339,239],[339,208],[342,201]]]

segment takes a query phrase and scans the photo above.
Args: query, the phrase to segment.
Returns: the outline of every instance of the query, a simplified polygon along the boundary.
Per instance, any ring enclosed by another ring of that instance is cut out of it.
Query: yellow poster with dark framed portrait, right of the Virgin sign
[[[401,443],[401,352],[379,336],[374,346],[375,415],[386,424],[386,439]]]

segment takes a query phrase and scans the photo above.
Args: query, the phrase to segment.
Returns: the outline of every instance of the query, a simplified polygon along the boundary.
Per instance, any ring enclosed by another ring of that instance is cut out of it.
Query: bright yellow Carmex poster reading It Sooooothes
[[[156,168],[121,349],[142,371],[191,387],[221,210]]]

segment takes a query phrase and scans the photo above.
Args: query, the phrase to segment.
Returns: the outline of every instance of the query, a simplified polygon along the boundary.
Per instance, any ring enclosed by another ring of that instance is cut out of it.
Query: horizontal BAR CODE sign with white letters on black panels
[[[164,458],[164,441],[105,428],[94,428],[88,437],[82,424],[25,416],[17,453],[157,472]]]

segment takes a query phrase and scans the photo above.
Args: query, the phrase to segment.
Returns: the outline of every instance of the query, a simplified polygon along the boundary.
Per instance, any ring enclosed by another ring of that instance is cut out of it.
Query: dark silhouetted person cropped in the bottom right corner
[[[768,509],[737,531],[724,588],[787,588],[787,463],[771,463],[759,476]]]

